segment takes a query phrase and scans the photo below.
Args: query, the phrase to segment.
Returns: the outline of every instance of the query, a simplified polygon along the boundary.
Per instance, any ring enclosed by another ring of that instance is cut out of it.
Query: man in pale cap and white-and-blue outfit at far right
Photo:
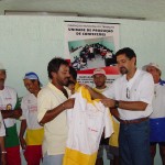
[[[156,154],[156,144],[160,145],[160,154],[162,164],[165,164],[165,86],[161,80],[162,70],[155,63],[150,63],[143,67],[148,72],[154,79],[154,99],[153,99],[153,113],[150,116],[150,141],[151,141],[151,155],[152,164]]]

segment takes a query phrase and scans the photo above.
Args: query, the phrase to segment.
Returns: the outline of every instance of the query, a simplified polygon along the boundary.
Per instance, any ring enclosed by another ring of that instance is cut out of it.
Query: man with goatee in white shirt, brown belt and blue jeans
[[[120,116],[120,165],[150,165],[150,125],[154,81],[151,74],[136,68],[136,55],[125,47],[116,53],[121,77],[107,91],[102,103],[117,108]],[[103,98],[98,94],[95,98]]]

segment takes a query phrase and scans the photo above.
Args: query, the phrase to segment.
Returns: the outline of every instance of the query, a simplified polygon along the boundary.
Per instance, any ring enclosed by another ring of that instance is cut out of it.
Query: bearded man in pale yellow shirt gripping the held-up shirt
[[[67,140],[66,109],[74,107],[75,99],[68,99],[70,90],[69,65],[63,58],[53,58],[47,66],[48,85],[38,92],[37,119],[44,125],[43,164],[62,165]]]

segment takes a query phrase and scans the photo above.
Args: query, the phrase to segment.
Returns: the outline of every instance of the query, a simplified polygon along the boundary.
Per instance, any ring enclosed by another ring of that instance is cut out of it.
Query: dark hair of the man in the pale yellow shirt
[[[51,79],[53,78],[52,73],[57,73],[59,70],[61,65],[69,66],[68,62],[61,57],[55,57],[48,63],[47,73]]]

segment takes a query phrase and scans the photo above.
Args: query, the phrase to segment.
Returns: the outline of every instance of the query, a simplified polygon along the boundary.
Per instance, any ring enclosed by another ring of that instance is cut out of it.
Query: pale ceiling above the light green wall
[[[0,14],[4,11],[165,22],[165,0],[0,0]]]

